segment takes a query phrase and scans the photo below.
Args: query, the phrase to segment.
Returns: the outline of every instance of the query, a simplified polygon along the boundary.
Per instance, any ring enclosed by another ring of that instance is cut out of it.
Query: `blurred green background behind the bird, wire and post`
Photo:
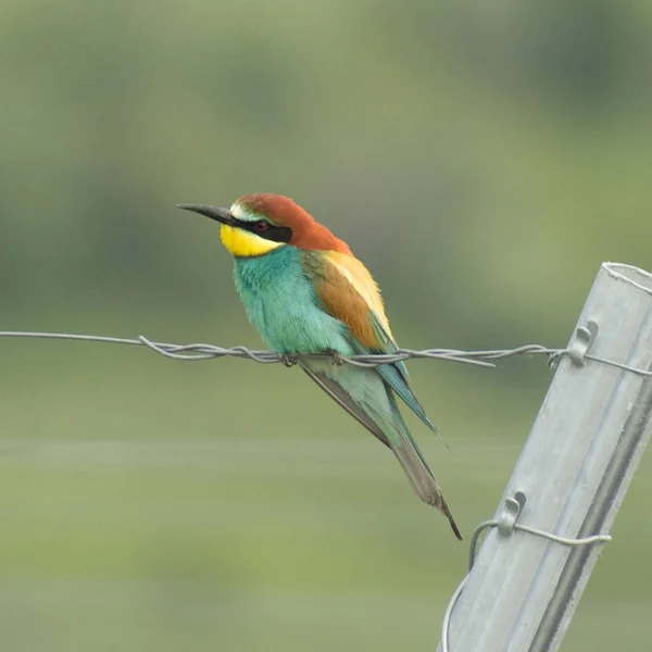
[[[261,343],[215,225],[293,197],[410,348],[564,346],[599,264],[652,267],[652,4],[0,8],[2,329]],[[297,369],[0,341],[3,651],[434,650],[467,544]],[[460,525],[550,381],[411,364]],[[650,455],[565,651],[645,648]]]

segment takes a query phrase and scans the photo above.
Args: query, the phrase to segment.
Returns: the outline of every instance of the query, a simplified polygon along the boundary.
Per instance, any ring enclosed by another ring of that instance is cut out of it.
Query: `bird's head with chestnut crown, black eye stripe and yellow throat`
[[[346,242],[280,195],[246,195],[230,209],[205,204],[179,204],[178,208],[220,222],[222,242],[236,258],[265,255],[288,246],[351,253]]]

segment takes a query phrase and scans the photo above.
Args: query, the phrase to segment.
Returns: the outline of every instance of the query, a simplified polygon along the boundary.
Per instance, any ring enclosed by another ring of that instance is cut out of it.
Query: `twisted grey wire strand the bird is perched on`
[[[551,366],[555,365],[564,355],[570,356],[575,362],[584,364],[587,360],[592,360],[602,364],[614,366],[627,372],[632,372],[641,376],[652,376],[652,371],[641,369],[635,366],[606,360],[598,355],[589,354],[589,342],[584,347],[577,346],[567,349],[552,349],[542,344],[525,344],[515,349],[487,349],[479,351],[464,351],[462,349],[398,349],[392,353],[374,353],[365,355],[339,355],[327,351],[319,353],[289,353],[279,355],[274,351],[259,349],[248,349],[247,347],[218,347],[204,342],[191,344],[174,344],[170,342],[156,342],[150,340],[143,335],[136,339],[124,337],[111,337],[103,335],[79,335],[74,333],[40,333],[34,330],[0,330],[0,337],[34,338],[34,339],[57,339],[84,342],[99,342],[109,344],[123,344],[131,347],[146,347],[156,353],[171,358],[173,360],[195,361],[212,360],[216,358],[239,358],[253,360],[263,364],[283,363],[286,366],[292,366],[300,358],[326,358],[331,359],[336,364],[351,364],[359,367],[376,367],[381,364],[392,364],[404,360],[448,360],[461,364],[471,364],[475,366],[496,368],[491,361],[503,360],[516,355],[534,356],[546,355]]]

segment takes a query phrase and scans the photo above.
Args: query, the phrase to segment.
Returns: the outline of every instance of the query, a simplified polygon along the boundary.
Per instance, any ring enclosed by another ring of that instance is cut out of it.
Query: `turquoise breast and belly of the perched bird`
[[[249,319],[274,351],[353,352],[344,337],[344,324],[318,308],[297,248],[280,247],[265,255],[236,259],[234,277]]]

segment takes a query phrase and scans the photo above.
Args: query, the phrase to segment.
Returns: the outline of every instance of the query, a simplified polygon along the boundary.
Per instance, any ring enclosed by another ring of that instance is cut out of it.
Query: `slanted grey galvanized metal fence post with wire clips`
[[[652,377],[595,358],[651,368],[652,275],[602,265],[501,501],[523,492],[519,523],[573,539],[609,532],[652,432]],[[490,529],[448,652],[556,650],[601,548]]]

